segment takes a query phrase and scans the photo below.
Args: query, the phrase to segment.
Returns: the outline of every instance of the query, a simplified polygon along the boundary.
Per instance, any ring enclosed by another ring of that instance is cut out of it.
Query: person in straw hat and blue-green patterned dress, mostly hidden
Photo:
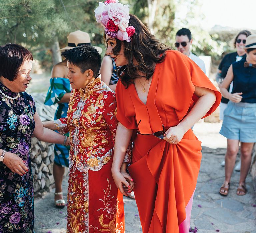
[[[71,32],[68,37],[68,45],[60,50],[69,50],[80,45],[90,45],[91,40],[87,32],[77,30]],[[94,46],[99,53],[102,49],[98,46]],[[71,86],[67,77],[68,68],[67,60],[63,60],[54,65],[51,72],[50,87],[46,95],[44,104],[53,105],[58,104],[54,120],[67,116],[68,102],[70,99]],[[69,134],[66,134],[69,136]],[[55,205],[58,208],[65,207],[65,201],[62,196],[62,180],[65,171],[65,167],[68,167],[69,161],[69,147],[55,144],[54,146],[54,165],[53,165],[53,177],[55,181]]]

